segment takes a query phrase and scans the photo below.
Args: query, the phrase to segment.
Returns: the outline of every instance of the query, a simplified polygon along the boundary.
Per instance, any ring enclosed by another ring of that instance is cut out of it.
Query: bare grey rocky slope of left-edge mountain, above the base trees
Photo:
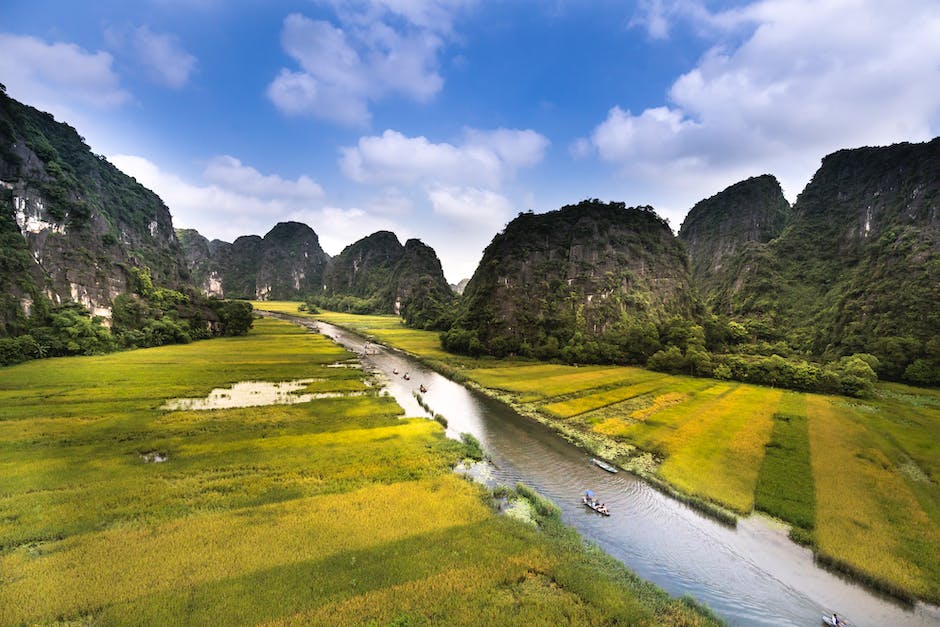
[[[0,94],[0,323],[39,295],[110,317],[128,269],[155,283],[185,281],[170,212],[74,128]]]

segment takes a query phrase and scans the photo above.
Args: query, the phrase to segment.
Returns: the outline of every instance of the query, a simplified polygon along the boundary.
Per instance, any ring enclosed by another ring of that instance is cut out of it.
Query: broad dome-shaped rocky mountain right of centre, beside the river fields
[[[487,247],[463,302],[457,325],[510,352],[698,308],[685,247],[667,223],[650,207],[598,201],[520,214]]]

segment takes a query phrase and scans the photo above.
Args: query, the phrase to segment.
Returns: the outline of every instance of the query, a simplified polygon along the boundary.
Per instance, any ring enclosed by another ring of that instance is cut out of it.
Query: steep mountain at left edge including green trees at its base
[[[250,327],[250,305],[186,284],[156,194],[2,90],[0,181],[0,365]]]

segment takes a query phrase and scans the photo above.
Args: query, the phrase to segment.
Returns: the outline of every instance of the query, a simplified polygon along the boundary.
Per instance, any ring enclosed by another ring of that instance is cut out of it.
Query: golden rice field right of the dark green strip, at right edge
[[[809,396],[806,409],[816,480],[815,540],[820,553],[874,583],[940,598],[940,490],[926,472],[913,478],[898,440],[867,423],[866,407]],[[936,440],[934,440],[936,442]],[[899,457],[904,456],[904,457]],[[899,465],[901,461],[901,465]]]

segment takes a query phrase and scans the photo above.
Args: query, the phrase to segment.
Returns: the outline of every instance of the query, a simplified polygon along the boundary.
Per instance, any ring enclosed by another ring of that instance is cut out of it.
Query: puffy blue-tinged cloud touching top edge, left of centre
[[[443,87],[438,57],[463,1],[333,2],[339,24],[293,13],[281,45],[299,66],[282,68],[267,95],[284,113],[349,125],[391,95],[418,102]]]

